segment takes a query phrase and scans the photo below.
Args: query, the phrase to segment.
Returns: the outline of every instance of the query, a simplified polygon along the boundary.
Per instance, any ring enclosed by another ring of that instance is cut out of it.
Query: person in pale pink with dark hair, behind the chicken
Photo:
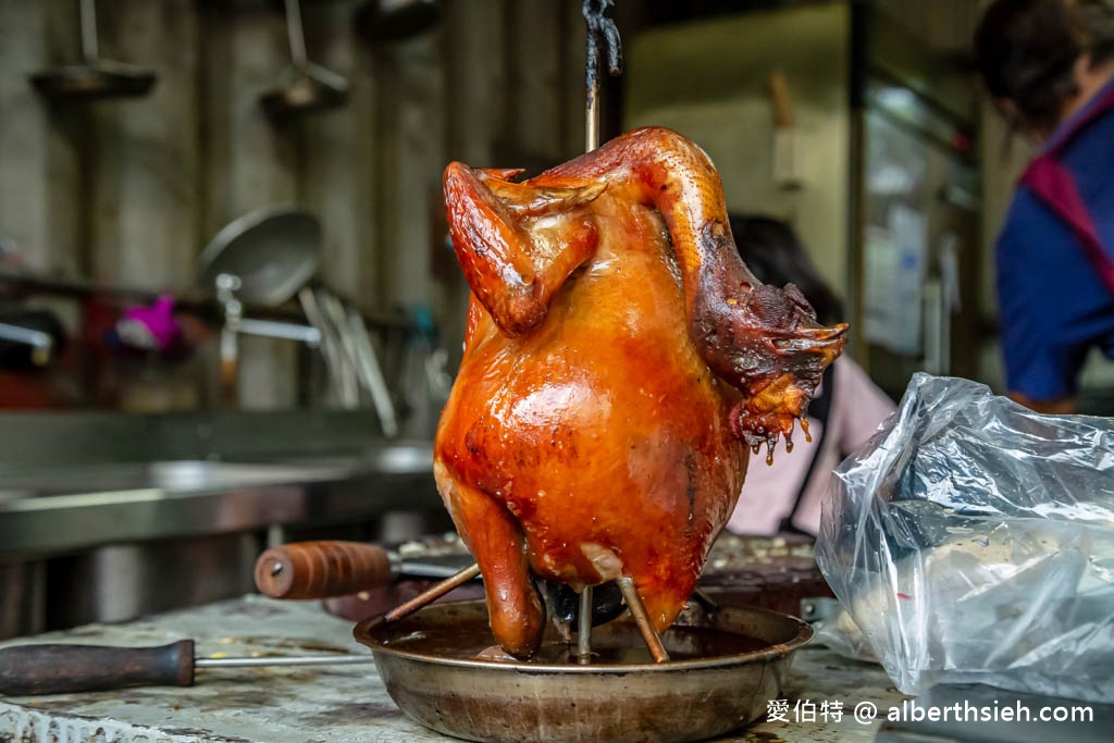
[[[731,232],[743,262],[765,284],[797,285],[818,320],[842,320],[840,301],[820,277],[793,229],[764,216],[733,216]],[[773,465],[752,457],[739,504],[727,522],[733,534],[815,536],[820,505],[828,497],[832,470],[874,433],[893,412],[893,402],[867,373],[843,355],[824,370],[809,405],[812,443],[797,442],[774,453]]]

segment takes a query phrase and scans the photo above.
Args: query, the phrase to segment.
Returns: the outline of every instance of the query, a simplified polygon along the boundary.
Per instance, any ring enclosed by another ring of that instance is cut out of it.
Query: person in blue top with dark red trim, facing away
[[[1114,3],[997,0],[975,55],[1010,128],[1040,145],[995,248],[1007,392],[1075,412],[1087,353],[1114,359]]]

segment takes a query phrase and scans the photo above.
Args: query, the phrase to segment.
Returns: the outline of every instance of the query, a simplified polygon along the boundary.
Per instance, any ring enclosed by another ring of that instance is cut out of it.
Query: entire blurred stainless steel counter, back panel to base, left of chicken
[[[447,528],[367,411],[0,414],[0,638],[242,595],[268,544]]]

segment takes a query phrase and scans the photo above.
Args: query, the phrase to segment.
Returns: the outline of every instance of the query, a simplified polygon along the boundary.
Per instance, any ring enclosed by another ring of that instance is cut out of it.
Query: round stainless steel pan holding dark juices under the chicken
[[[596,662],[547,642],[540,659],[481,659],[495,639],[483,602],[434,604],[356,625],[399,708],[473,741],[696,741],[755,721],[779,698],[812,630],[759,608],[686,612],[654,663],[629,618],[596,627]],[[496,651],[494,655],[498,656]]]

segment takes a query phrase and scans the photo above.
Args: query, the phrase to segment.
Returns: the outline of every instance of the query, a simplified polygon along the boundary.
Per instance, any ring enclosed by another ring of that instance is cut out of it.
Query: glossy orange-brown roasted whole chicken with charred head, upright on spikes
[[[471,303],[434,473],[496,639],[529,657],[532,576],[577,590],[628,576],[658,632],[673,623],[750,451],[792,446],[847,326],[751,274],[719,174],[674,131],[519,173],[444,173]]]

